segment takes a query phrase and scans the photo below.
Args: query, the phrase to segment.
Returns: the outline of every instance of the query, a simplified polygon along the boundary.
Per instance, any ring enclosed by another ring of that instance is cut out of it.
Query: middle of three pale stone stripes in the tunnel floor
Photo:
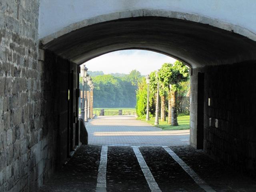
[[[137,160],[140,164],[140,168],[141,168],[141,170],[142,170],[142,172],[143,172],[143,174],[146,178],[146,181],[148,182],[148,186],[149,186],[150,190],[152,192],[161,192],[161,190],[160,190],[158,184],[156,183],[151,171],[149,170],[149,168],[148,168],[148,166],[147,166],[139,148],[134,147],[134,146],[132,148],[133,148],[133,151],[134,151],[134,153],[137,157]]]

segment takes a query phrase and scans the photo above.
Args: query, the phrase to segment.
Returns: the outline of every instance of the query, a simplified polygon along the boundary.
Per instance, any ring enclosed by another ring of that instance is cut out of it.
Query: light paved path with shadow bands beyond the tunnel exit
[[[86,123],[86,129],[91,145],[189,145],[189,130],[161,130],[135,116],[96,116]]]

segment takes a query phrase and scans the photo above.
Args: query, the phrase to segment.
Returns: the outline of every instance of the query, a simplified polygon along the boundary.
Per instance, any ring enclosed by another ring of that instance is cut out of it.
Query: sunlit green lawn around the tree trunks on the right
[[[154,125],[155,118],[150,118],[149,121],[146,121],[143,119],[142,121],[147,122],[148,124]],[[170,126],[167,124],[167,118],[166,121],[162,122],[159,119],[159,125],[154,125],[156,127],[161,128],[162,130],[181,130],[181,129],[189,129],[189,115],[186,116],[180,116],[178,117],[178,126]]]

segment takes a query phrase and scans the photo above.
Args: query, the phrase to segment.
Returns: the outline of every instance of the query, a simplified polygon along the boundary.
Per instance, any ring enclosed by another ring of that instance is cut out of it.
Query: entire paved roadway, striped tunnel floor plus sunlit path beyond
[[[251,178],[190,148],[188,130],[162,131],[134,116],[98,117],[86,128],[97,145],[82,145],[40,192],[256,191]]]

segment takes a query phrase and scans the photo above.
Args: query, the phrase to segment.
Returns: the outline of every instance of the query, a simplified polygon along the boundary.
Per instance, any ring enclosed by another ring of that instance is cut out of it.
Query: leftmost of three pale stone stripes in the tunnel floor
[[[107,162],[108,146],[102,146],[100,152],[100,165],[98,169],[96,192],[106,192]]]

